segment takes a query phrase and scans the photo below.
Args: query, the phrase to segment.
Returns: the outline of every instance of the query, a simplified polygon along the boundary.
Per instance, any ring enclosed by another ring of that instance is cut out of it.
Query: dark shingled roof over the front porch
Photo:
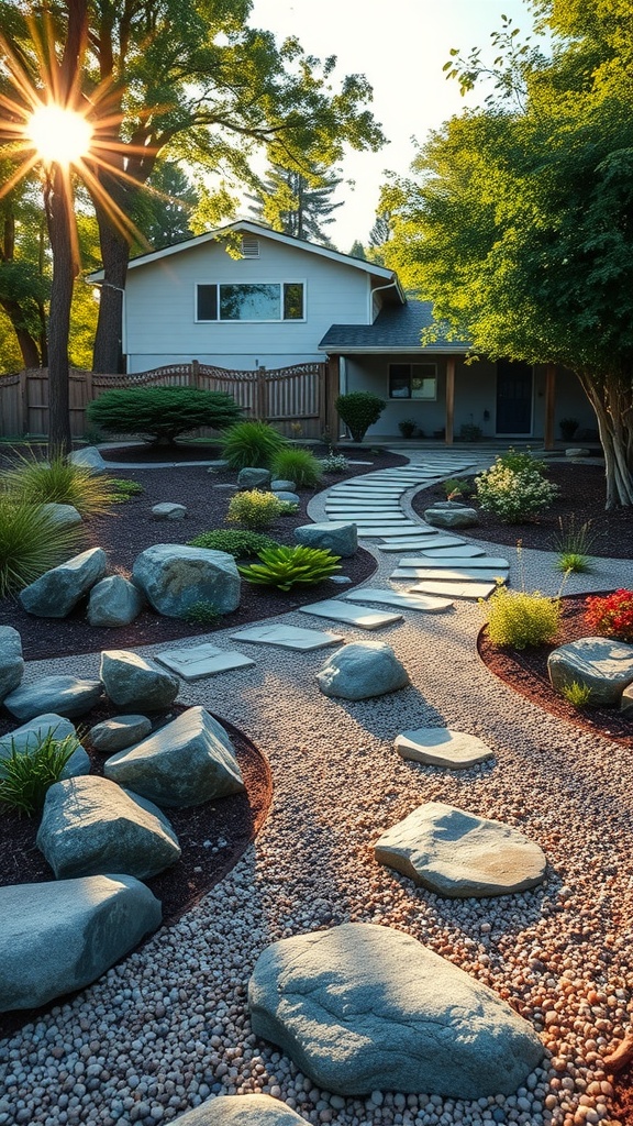
[[[422,330],[434,324],[433,302],[410,300],[405,305],[382,309],[373,324],[332,324],[319,343],[319,351],[455,355],[470,350],[465,341],[448,340],[442,332],[433,343],[422,345]]]

